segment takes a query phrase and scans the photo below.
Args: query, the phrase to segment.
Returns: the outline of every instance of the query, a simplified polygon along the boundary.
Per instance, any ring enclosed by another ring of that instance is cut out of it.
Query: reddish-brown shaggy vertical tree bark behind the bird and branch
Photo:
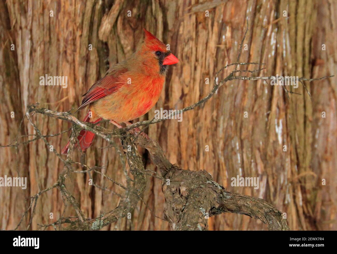
[[[36,134],[27,120],[21,125],[29,104],[39,102],[41,107],[57,111],[77,107],[80,95],[109,66],[135,51],[143,28],[170,44],[180,63],[170,68],[158,103],[140,120],[152,119],[154,110],[160,107],[180,109],[206,96],[213,88],[217,70],[236,62],[246,17],[247,50],[242,51],[241,61],[266,63],[259,76],[317,78],[337,74],[335,1],[0,0],[0,9],[0,145],[10,144],[17,135]],[[205,11],[209,11],[209,17],[205,17]],[[322,44],[326,50],[322,50]],[[231,70],[225,69],[223,76]],[[45,74],[67,76],[68,87],[40,86],[39,77]],[[205,84],[206,78],[210,84]],[[205,169],[232,195],[267,200],[286,213],[290,229],[336,230],[336,84],[336,76],[306,83],[311,101],[301,84],[292,90],[301,95],[291,94],[288,100],[280,86],[234,80],[202,107],[184,113],[182,122],[154,124],[147,133],[159,142],[171,163],[190,170]],[[326,118],[322,118],[322,112]],[[77,117],[82,119],[84,114],[80,112]],[[39,114],[32,118],[42,135],[70,127],[65,121]],[[111,124],[103,126],[112,128]],[[68,135],[47,140],[60,151]],[[96,137],[85,156],[77,152],[77,160],[103,166],[102,173],[127,185],[122,169],[125,161],[121,162],[115,148],[98,149],[106,146],[106,141]],[[209,146],[208,152],[205,146]],[[139,152],[145,170],[156,171],[150,154],[145,149]],[[13,229],[26,209],[25,197],[53,185],[63,164],[42,140],[0,148],[0,158],[0,177],[19,175],[28,177],[29,182],[26,190],[0,188],[0,228]],[[237,175],[259,177],[259,189],[232,187],[231,178]],[[89,185],[90,178],[89,174],[73,173],[66,179],[66,186],[85,216],[94,218],[117,207],[119,197]],[[93,174],[92,178],[97,186],[121,193],[119,186],[104,177]],[[322,179],[326,185],[322,185]],[[122,219],[103,229],[171,228],[158,218],[169,209],[161,181],[153,177],[146,181],[142,198],[147,205],[138,203],[132,223]],[[201,198],[195,191],[192,195]],[[32,229],[74,215],[60,192],[53,189],[39,197]],[[207,222],[213,230],[267,229],[259,220],[229,213],[210,217]]]

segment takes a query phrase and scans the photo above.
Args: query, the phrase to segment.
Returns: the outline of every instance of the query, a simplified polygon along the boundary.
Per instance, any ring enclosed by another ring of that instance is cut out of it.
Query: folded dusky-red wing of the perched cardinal
[[[88,92],[83,95],[84,98],[81,106],[77,110],[80,110],[88,104],[116,92],[122,86],[122,84],[118,82],[118,77],[122,73],[127,72],[128,69],[121,66],[116,67],[109,69],[101,80],[91,86]]]

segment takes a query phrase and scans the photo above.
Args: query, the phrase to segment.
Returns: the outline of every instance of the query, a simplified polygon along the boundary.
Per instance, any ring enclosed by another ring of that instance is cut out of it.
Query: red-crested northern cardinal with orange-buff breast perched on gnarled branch
[[[145,30],[139,49],[129,58],[112,66],[83,96],[83,109],[89,105],[84,122],[97,123],[108,119],[119,128],[119,123],[129,121],[149,112],[159,99],[163,88],[167,65],[178,63],[178,59],[166,50],[166,45]],[[77,111],[76,110],[76,111]],[[97,124],[99,125],[99,124]],[[95,134],[82,130],[77,137],[79,146],[85,151]],[[67,154],[68,144],[62,149]],[[75,146],[77,146],[76,144]]]

